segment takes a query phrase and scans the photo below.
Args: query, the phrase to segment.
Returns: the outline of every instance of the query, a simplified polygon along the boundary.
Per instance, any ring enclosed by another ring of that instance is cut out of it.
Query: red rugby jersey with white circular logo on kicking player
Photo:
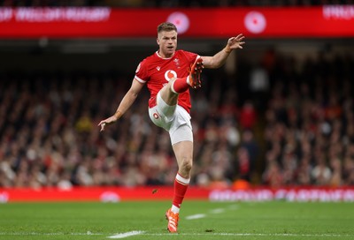
[[[149,108],[156,106],[158,91],[173,77],[185,78],[189,75],[190,64],[196,61],[196,54],[184,50],[176,50],[170,58],[155,54],[146,57],[135,71],[135,79],[146,83],[150,91]],[[188,112],[191,108],[189,89],[178,97],[178,105]]]

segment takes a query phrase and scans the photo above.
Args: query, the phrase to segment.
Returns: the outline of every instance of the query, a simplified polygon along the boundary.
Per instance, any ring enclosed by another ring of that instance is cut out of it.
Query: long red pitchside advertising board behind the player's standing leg
[[[0,203],[22,201],[101,201],[119,202],[131,200],[171,200],[172,187],[75,187],[67,190],[58,188],[0,188]],[[210,190],[189,187],[186,199],[210,201],[345,201],[354,202],[354,187],[267,187],[248,189]]]

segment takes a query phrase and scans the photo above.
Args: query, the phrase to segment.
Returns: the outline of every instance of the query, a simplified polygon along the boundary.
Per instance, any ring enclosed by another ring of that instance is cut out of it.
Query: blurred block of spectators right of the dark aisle
[[[354,184],[352,64],[352,56],[319,54],[301,72],[291,58],[273,70],[263,183]]]

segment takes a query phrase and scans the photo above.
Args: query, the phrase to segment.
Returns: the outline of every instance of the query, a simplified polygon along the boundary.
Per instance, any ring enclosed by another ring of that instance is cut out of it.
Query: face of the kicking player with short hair
[[[177,48],[176,31],[161,32],[158,34],[159,54],[164,57],[173,56]]]

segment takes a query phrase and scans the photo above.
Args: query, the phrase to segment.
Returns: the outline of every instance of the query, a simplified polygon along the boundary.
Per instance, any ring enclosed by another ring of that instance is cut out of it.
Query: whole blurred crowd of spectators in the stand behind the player
[[[354,57],[296,62],[272,50],[258,66],[204,71],[192,91],[191,184],[354,184]],[[145,90],[117,124],[133,73],[2,72],[0,186],[173,184],[168,134],[151,124]]]

